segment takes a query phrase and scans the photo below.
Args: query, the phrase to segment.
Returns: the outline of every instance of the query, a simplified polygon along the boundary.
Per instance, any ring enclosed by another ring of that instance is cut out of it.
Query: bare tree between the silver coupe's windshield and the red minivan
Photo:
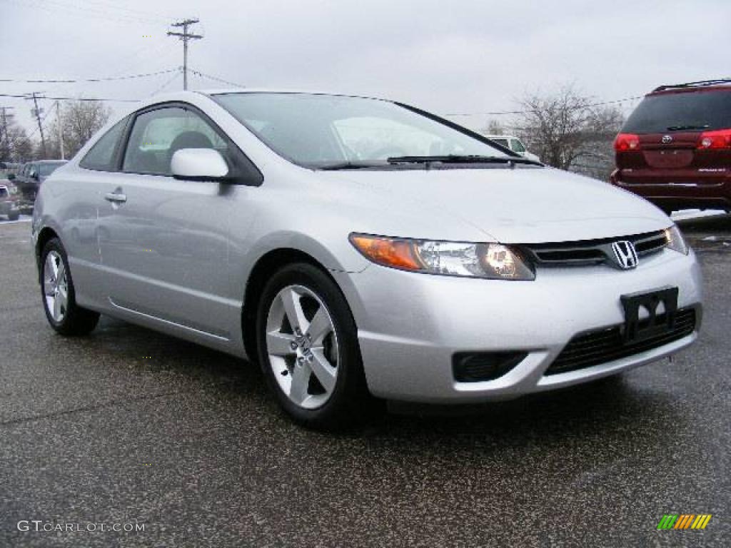
[[[614,106],[597,105],[572,85],[556,94],[531,94],[521,102],[518,132],[541,160],[561,170],[604,177],[613,162],[612,140],[623,115]]]

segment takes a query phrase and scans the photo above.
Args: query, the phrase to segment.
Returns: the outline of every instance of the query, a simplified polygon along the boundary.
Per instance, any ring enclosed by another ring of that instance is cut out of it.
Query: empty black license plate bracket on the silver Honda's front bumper
[[[651,292],[638,292],[620,297],[624,308],[624,344],[637,343],[648,338],[663,335],[673,329],[678,311],[678,288],[665,286]],[[659,312],[662,304],[663,311]],[[648,317],[640,319],[640,309]]]

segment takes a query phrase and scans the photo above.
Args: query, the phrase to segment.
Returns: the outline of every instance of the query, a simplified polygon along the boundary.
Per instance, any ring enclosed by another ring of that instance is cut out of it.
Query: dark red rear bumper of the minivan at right
[[[632,183],[622,180],[619,170],[614,170],[610,183],[641,196],[664,210],[722,209],[731,211],[731,178],[719,182],[675,183],[667,178],[658,182]]]

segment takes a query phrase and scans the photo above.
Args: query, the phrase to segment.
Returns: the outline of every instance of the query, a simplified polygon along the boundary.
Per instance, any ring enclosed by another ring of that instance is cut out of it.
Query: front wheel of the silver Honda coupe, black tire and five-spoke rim
[[[256,330],[268,384],[295,422],[336,430],[371,411],[355,320],[336,283],[317,267],[297,263],[272,276]]]

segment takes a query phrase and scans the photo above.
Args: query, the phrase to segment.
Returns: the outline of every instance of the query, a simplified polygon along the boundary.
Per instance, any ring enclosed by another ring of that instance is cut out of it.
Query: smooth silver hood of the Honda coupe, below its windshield
[[[346,182],[360,187],[353,197],[358,209],[370,205],[379,215],[356,230],[374,234],[470,240],[480,232],[483,238],[503,243],[542,243],[634,235],[667,228],[672,222],[634,194],[553,168],[352,170],[319,175],[338,183],[341,190]],[[416,226],[409,224],[417,218]]]

